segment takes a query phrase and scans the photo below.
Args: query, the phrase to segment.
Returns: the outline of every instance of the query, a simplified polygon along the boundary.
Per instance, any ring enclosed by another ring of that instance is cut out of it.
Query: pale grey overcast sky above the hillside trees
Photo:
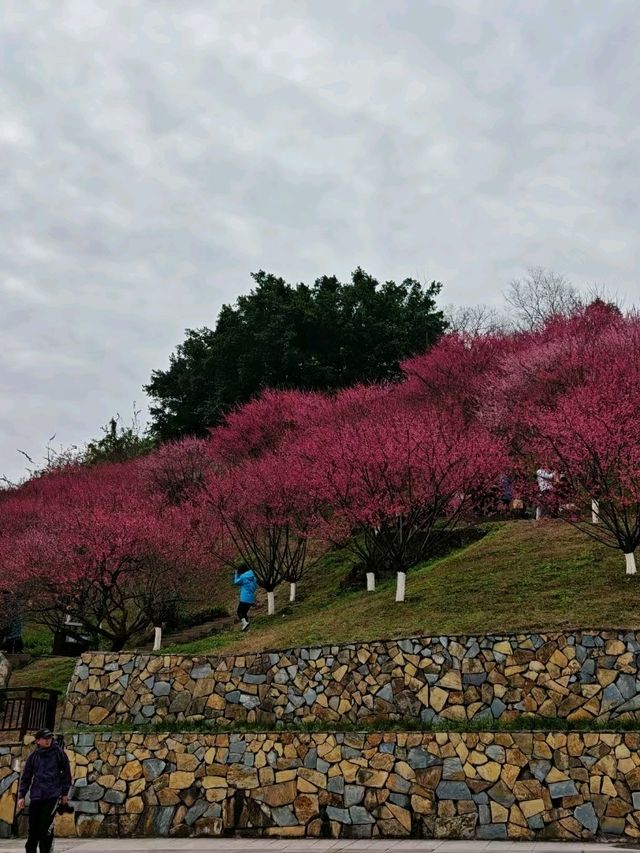
[[[249,273],[637,300],[637,0],[4,0],[0,473],[82,443]]]

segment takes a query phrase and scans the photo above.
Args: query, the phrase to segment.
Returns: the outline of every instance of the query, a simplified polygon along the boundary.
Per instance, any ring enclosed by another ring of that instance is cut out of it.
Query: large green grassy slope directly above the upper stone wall
[[[427,563],[407,578],[407,600],[394,602],[394,581],[375,593],[341,592],[345,556],[332,554],[299,584],[304,600],[280,613],[256,614],[251,631],[174,646],[172,650],[254,651],[407,636],[553,629],[640,627],[640,580],[624,573],[622,555],[560,522],[495,525],[468,548]],[[284,608],[284,610],[283,610]]]

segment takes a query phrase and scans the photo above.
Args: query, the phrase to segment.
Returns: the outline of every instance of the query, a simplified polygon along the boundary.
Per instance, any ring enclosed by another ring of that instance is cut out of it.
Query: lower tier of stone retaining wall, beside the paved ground
[[[639,746],[637,732],[76,734],[58,833],[636,840]],[[0,837],[21,751],[0,747]]]

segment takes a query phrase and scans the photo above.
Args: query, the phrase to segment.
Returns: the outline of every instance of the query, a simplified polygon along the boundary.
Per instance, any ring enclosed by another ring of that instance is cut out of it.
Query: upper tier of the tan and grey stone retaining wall
[[[211,657],[82,656],[65,721],[327,723],[638,716],[640,632],[414,637]]]

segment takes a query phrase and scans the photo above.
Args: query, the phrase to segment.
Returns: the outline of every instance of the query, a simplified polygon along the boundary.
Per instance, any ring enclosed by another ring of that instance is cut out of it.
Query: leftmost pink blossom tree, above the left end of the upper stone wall
[[[144,495],[136,464],[52,475],[39,498],[37,523],[0,553],[36,619],[57,630],[72,616],[118,650],[166,618],[185,590],[182,533]]]

